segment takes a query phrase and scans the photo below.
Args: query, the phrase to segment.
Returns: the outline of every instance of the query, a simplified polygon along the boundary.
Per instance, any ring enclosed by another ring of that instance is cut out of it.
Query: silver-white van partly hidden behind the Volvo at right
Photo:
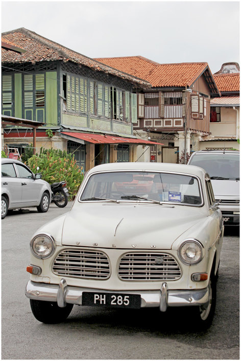
[[[187,164],[209,174],[224,225],[239,226],[239,151],[199,150],[192,153]]]

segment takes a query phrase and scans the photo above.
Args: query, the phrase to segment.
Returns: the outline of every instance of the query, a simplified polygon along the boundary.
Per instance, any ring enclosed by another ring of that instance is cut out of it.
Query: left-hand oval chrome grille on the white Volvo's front
[[[103,252],[65,249],[56,257],[53,272],[67,277],[107,279],[110,265]]]

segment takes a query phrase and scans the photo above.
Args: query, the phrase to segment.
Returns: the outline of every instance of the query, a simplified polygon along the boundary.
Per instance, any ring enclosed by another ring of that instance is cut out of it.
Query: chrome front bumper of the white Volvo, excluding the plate
[[[67,286],[64,278],[59,285],[37,283],[29,281],[26,285],[25,294],[28,298],[40,301],[57,302],[59,307],[65,307],[66,303],[82,305],[82,293],[116,293],[110,290],[89,289]],[[119,293],[119,291],[118,291]],[[140,294],[141,307],[159,307],[165,312],[167,306],[201,306],[209,300],[209,290],[168,290],[167,283],[163,282],[160,290],[152,291],[123,291],[125,294]]]

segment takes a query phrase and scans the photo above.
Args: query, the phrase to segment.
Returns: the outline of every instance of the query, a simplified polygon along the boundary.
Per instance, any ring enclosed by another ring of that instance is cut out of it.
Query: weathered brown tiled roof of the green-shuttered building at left
[[[125,74],[122,71],[112,69],[109,66],[88,58],[74,50],[70,50],[52,40],[44,38],[25,28],[19,28],[2,34],[2,39],[8,42],[14,42],[16,46],[26,50],[24,54],[13,53],[2,49],[2,64],[5,63],[26,63],[41,61],[63,60],[71,61],[77,64],[85,65],[93,70],[103,71],[108,74],[118,76],[142,87],[150,87],[146,81],[134,78],[131,74]]]

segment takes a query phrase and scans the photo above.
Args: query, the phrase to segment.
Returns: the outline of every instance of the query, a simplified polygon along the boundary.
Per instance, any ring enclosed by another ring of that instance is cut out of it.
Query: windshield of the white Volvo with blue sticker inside
[[[101,199],[202,204],[199,182],[196,177],[176,173],[141,171],[91,175],[80,200],[100,201]]]

